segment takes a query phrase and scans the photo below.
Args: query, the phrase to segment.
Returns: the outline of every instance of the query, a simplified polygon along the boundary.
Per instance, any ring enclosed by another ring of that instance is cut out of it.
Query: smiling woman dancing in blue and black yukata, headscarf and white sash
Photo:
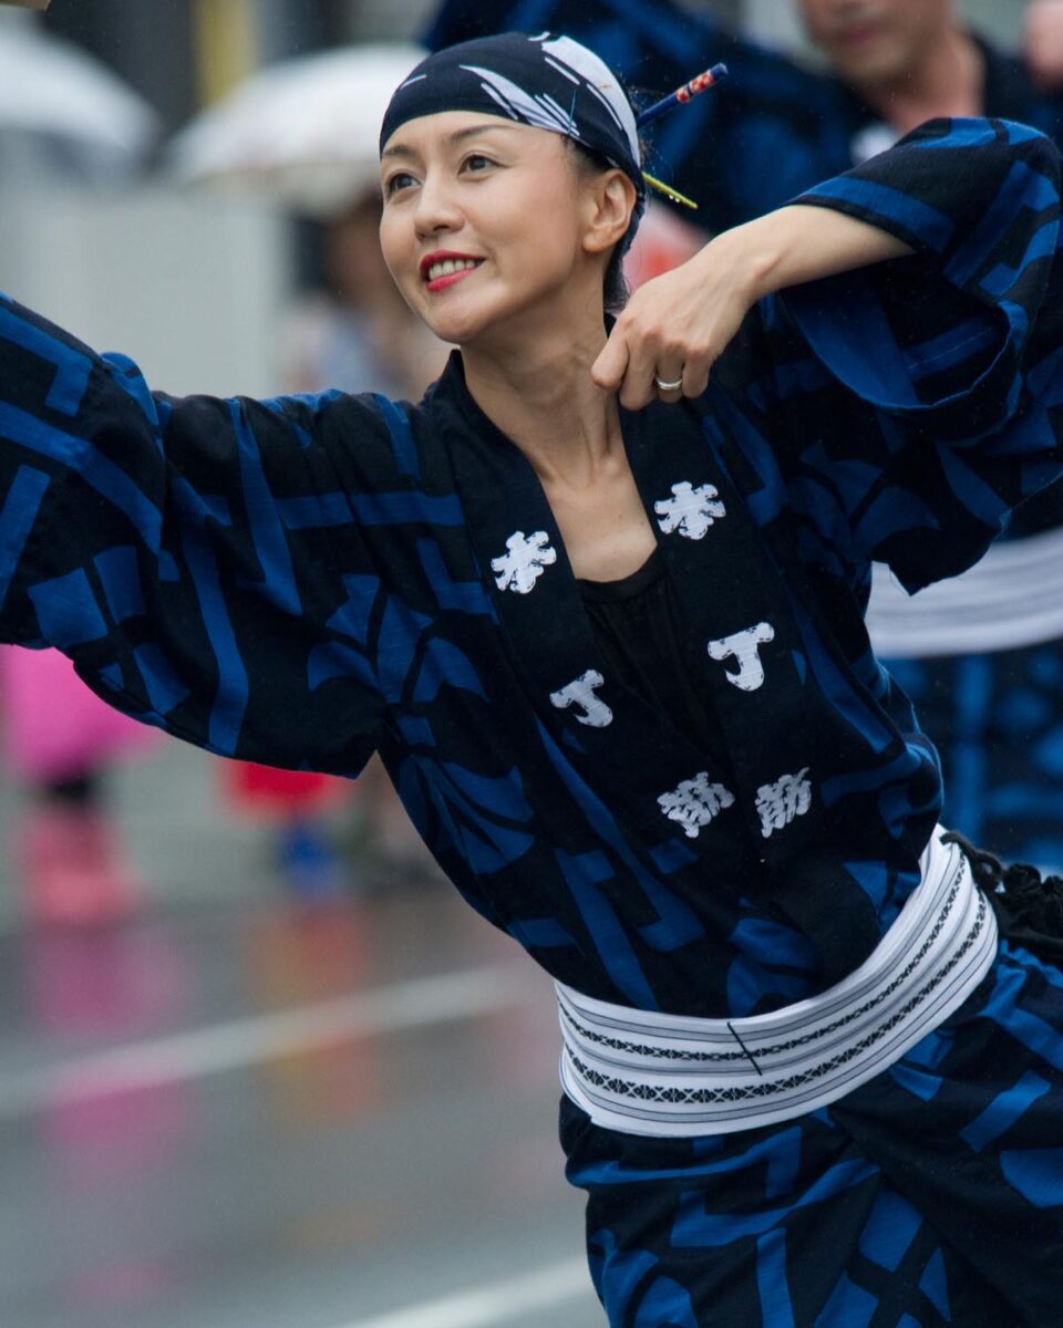
[[[1052,1321],[1063,977],[935,830],[861,611],[1060,470],[1055,150],[927,125],[609,336],[643,183],[590,52],[431,57],[381,183],[461,348],[420,406],[174,400],[3,307],[4,635],[215,752],[381,753],[558,981],[611,1324]]]

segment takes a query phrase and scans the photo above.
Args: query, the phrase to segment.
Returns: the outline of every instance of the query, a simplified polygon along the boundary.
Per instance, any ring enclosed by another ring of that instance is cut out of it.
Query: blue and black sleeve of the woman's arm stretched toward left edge
[[[0,297],[0,639],[211,752],[356,774],[383,703],[344,631],[372,571],[345,458],[381,414],[151,393]]]

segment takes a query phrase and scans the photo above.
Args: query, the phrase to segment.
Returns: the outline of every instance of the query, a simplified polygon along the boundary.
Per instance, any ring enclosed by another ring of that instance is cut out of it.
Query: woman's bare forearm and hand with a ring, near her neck
[[[842,212],[781,207],[711,240],[631,297],[594,365],[628,410],[700,397],[714,363],[757,300],[789,286],[912,254],[888,231]],[[682,388],[660,390],[663,382]]]

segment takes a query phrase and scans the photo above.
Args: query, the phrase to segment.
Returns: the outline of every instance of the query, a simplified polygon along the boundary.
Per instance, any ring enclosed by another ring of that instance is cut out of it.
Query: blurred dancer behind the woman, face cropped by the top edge
[[[438,48],[508,28],[554,27],[655,94],[724,60],[727,94],[660,126],[667,178],[695,198],[684,218],[725,230],[779,207],[934,116],[1001,116],[1063,143],[1063,4],[1030,7],[1024,57],[961,21],[951,0],[799,0],[812,70],[670,0],[496,4],[448,0]],[[910,599],[886,575],[868,615],[942,760],[946,819],[1015,861],[1063,865],[1063,489],[1009,523],[977,572]]]

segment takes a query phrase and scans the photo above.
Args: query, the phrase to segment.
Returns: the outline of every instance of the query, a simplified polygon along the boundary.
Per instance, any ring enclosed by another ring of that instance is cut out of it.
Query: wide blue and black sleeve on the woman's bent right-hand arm
[[[1059,166],[1026,126],[931,121],[796,199],[916,250],[761,311],[795,491],[909,591],[971,566],[1063,473]]]

